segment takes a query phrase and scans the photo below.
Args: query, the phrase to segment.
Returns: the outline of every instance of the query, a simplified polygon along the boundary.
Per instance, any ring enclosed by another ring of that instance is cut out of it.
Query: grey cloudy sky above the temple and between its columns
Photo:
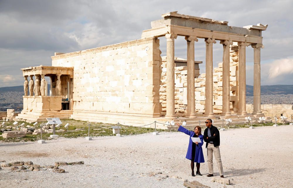
[[[293,1],[130,1],[0,0],[0,87],[23,85],[21,68],[52,65],[54,52],[73,52],[139,39],[161,14],[178,11],[228,25],[268,24],[263,31],[261,84],[293,84]],[[166,39],[160,37],[162,56]],[[186,58],[186,41],[178,37],[175,56]],[[203,61],[205,43],[195,43],[195,60]],[[214,67],[222,62],[222,45],[214,44]],[[253,85],[253,48],[246,48],[246,83]]]

